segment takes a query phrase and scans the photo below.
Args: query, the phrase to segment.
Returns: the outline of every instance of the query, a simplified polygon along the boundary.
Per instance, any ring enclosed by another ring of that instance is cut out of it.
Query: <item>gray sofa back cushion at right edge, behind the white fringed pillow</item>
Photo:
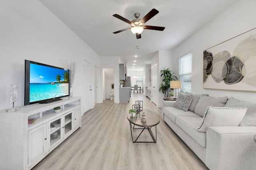
[[[256,104],[229,98],[225,107],[246,107],[247,111],[239,126],[256,126]]]

